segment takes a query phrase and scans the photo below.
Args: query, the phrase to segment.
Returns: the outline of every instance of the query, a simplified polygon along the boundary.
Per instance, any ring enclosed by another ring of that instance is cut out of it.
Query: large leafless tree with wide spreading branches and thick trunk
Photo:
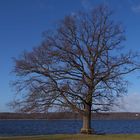
[[[27,112],[71,109],[91,133],[91,112],[109,110],[126,92],[124,76],[138,68],[123,49],[124,30],[105,6],[66,16],[42,44],[15,59],[16,106]]]

